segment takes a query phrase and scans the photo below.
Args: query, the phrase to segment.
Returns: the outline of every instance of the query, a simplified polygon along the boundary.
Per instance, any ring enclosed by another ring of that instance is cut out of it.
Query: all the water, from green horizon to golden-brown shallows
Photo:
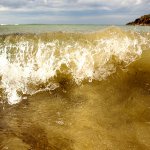
[[[0,25],[1,150],[149,150],[150,27]]]

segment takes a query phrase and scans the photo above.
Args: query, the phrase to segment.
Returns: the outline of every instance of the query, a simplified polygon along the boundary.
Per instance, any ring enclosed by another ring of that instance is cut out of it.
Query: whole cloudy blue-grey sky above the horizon
[[[126,24],[150,0],[0,0],[0,24]]]

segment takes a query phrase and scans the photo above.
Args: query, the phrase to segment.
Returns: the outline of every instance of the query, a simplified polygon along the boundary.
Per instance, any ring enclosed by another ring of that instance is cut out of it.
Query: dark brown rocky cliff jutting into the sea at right
[[[150,26],[150,14],[144,15],[144,16],[136,19],[133,22],[127,23],[126,25],[142,25],[142,26],[148,25],[148,26]]]

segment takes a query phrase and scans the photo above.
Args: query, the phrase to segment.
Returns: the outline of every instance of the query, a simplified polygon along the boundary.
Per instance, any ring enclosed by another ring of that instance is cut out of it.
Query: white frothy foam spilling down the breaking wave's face
[[[57,76],[58,70],[63,72],[62,65],[68,68],[65,73],[71,74],[80,84],[84,79],[90,82],[105,79],[116,71],[117,64],[128,65],[142,53],[139,41],[127,36],[101,38],[86,45],[79,41],[62,44],[59,40],[39,40],[36,49],[32,42],[19,40],[12,44],[7,41],[0,45],[1,87],[9,104],[18,103],[21,94],[57,88],[58,83],[48,80]],[[115,57],[115,63],[112,57]],[[44,88],[38,87],[40,84],[44,84]]]

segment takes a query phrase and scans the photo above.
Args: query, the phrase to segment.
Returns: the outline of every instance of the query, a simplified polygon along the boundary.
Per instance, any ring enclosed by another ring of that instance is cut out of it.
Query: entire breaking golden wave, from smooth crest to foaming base
[[[16,104],[23,95],[58,88],[63,78],[78,85],[104,80],[137,60],[149,48],[149,35],[116,27],[93,33],[1,35],[1,97]]]

